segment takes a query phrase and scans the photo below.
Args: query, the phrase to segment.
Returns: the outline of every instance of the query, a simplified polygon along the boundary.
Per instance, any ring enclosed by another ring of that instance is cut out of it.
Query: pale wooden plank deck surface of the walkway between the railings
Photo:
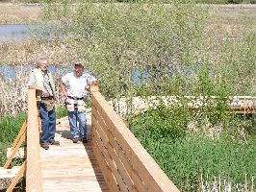
[[[60,146],[40,148],[42,191],[108,191],[101,170],[91,149],[90,116],[88,115],[89,142],[73,143],[67,118],[57,121],[56,140]]]

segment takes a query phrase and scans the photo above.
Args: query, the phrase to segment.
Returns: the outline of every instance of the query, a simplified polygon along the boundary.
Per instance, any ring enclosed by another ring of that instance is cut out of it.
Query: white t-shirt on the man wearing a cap
[[[64,75],[62,82],[66,85],[67,95],[70,97],[82,98],[87,95],[86,85],[92,84],[96,79],[89,73],[83,73],[77,77],[75,72]]]

